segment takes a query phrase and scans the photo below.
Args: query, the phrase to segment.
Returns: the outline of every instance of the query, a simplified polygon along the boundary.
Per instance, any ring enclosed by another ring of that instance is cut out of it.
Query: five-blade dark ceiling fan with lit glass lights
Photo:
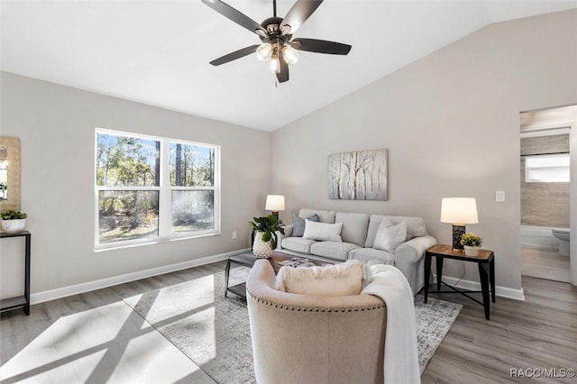
[[[262,41],[261,44],[254,44],[241,50],[235,50],[221,58],[212,60],[210,64],[214,66],[240,59],[250,55],[252,52],[256,52],[258,59],[268,61],[269,69],[277,75],[279,83],[284,83],[289,81],[289,64],[295,64],[298,61],[298,50],[346,55],[352,48],[350,45],[341,42],[292,38],[293,33],[297,32],[298,28],[323,3],[323,0],[298,0],[290,8],[284,19],[277,17],[277,1],[273,0],[273,16],[260,24],[220,0],[202,0],[202,2],[234,23],[256,33]]]

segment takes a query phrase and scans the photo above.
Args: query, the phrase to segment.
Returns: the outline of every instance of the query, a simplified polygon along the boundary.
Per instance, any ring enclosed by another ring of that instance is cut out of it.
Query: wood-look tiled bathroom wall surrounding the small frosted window
[[[521,224],[569,228],[569,183],[527,183],[525,156],[569,153],[569,134],[521,139]]]

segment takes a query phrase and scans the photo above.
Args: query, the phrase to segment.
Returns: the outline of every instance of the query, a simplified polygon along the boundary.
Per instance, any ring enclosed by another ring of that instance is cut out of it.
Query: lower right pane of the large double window
[[[172,233],[214,228],[214,191],[172,191]]]

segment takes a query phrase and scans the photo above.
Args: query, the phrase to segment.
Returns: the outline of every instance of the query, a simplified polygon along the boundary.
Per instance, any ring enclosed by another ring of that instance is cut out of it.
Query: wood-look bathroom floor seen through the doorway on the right
[[[554,281],[571,281],[569,256],[558,251],[521,248],[521,275]]]

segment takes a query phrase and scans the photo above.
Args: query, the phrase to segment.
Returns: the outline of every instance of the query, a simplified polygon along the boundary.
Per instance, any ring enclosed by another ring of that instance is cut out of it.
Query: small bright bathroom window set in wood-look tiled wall
[[[569,153],[525,157],[527,183],[568,183]]]

